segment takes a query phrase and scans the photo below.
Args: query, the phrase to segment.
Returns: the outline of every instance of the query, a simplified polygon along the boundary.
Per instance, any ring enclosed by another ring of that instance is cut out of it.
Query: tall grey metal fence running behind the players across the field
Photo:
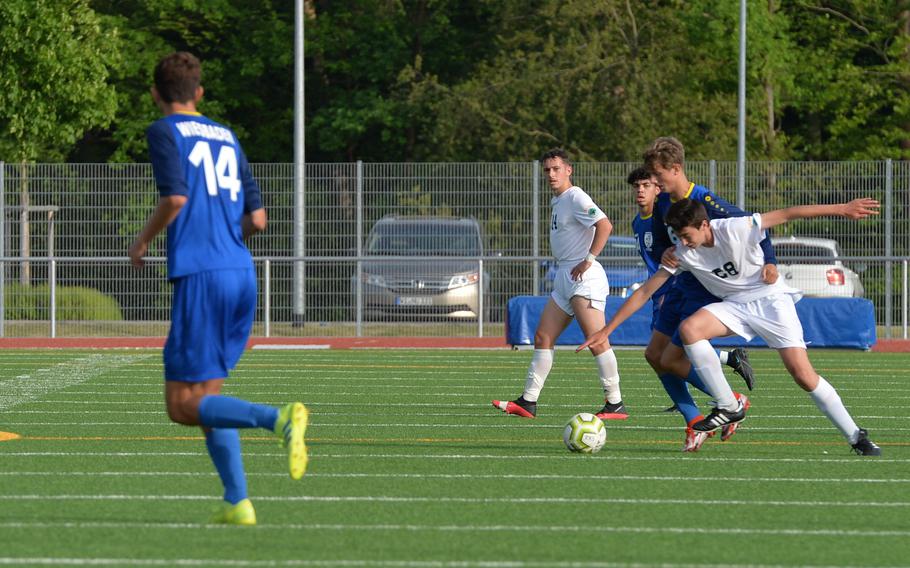
[[[621,238],[637,212],[625,180],[638,165],[575,164],[573,181],[614,224],[608,275],[640,264]],[[257,335],[502,335],[510,297],[549,290],[551,193],[537,162],[307,164],[301,195],[293,164],[253,171],[269,216],[250,244],[260,277]],[[778,256],[787,251],[797,279],[816,278],[809,265],[823,267],[819,282],[795,285],[866,297],[880,334],[905,333],[910,164],[749,162],[743,203],[735,162],[690,162],[687,173],[751,211],[881,200],[872,220],[803,220],[774,234],[795,243]],[[149,164],[2,164],[0,332],[164,335],[165,240],[142,271],[125,256],[156,201]],[[612,293],[628,290],[612,280]]]

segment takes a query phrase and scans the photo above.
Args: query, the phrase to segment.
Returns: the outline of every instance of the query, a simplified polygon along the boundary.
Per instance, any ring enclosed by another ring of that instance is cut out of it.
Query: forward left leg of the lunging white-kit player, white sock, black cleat
[[[708,432],[726,424],[741,422],[746,417],[744,405],[733,394],[733,389],[724,377],[720,359],[709,343],[710,339],[729,335],[730,329],[710,311],[700,309],[680,325],[679,333],[692,367],[717,404],[707,418],[693,424],[692,428]]]

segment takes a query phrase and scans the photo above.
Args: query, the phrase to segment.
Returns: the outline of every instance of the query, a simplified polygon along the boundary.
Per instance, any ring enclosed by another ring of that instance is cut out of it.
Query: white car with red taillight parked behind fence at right
[[[840,245],[833,239],[771,237],[777,269],[784,283],[810,297],[861,298],[859,275],[840,261]]]

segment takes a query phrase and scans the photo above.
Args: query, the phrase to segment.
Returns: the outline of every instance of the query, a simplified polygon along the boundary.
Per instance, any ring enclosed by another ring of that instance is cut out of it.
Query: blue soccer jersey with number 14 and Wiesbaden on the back
[[[147,136],[159,194],[187,197],[167,228],[168,278],[252,268],[241,220],[262,197],[234,133],[201,114],[176,113]]]

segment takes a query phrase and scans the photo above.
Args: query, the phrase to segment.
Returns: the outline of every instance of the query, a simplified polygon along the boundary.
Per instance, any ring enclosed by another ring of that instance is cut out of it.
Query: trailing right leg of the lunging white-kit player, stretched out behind
[[[778,349],[777,352],[796,384],[809,393],[818,409],[840,430],[856,453],[864,456],[881,455],[881,449],[853,421],[834,387],[815,372],[804,348],[787,347]]]

